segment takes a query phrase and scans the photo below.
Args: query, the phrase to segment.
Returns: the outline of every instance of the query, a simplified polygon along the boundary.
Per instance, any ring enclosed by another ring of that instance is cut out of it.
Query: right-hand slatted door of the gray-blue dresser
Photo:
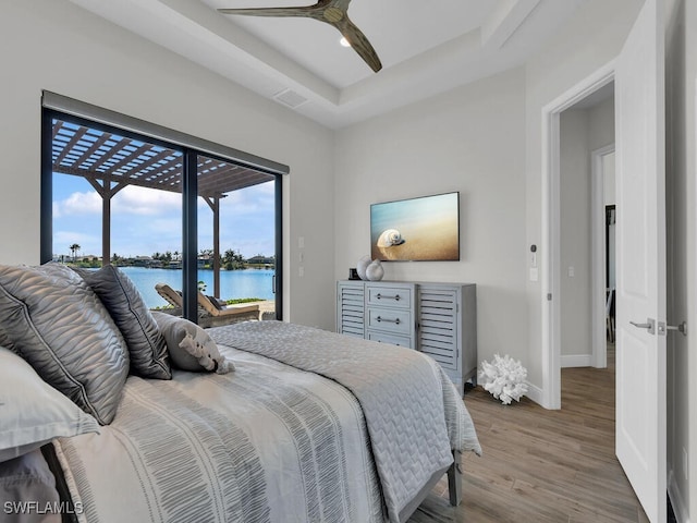
[[[421,287],[419,350],[444,369],[457,369],[457,292]]]

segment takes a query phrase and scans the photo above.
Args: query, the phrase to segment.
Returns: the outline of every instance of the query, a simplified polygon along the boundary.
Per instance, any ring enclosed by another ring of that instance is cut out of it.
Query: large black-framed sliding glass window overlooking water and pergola
[[[42,132],[42,262],[112,264],[192,320],[199,292],[281,317],[280,174],[48,108]]]

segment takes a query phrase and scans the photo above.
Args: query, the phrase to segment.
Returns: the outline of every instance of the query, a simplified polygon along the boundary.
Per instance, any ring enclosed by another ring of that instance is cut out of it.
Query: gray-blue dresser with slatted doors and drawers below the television
[[[473,283],[342,280],[337,331],[416,349],[433,357],[461,393],[477,378],[477,299]]]

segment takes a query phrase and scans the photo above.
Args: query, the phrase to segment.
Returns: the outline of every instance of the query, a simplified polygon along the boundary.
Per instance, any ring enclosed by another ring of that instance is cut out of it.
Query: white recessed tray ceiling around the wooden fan
[[[586,0],[352,0],[379,73],[328,24],[217,11],[313,0],[71,1],[335,129],[524,63]]]

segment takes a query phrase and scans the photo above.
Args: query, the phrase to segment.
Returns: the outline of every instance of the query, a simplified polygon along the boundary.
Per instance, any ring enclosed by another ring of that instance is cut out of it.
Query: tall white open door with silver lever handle
[[[616,453],[655,523],[665,521],[667,510],[661,5],[660,0],[646,0],[617,59],[615,76]]]

